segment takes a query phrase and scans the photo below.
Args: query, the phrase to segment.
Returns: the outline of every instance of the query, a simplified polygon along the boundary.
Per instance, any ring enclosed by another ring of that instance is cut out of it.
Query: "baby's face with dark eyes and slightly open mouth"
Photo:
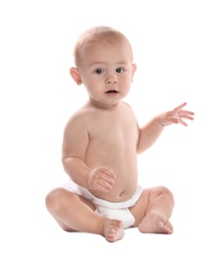
[[[111,106],[128,95],[136,71],[128,42],[90,42],[81,59],[81,82],[93,103]]]

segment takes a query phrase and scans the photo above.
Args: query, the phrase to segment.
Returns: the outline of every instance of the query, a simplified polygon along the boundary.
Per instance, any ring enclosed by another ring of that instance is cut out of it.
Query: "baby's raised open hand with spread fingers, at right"
[[[162,113],[158,116],[158,121],[163,126],[170,125],[173,123],[181,123],[185,126],[188,126],[188,124],[184,121],[184,119],[193,120],[192,115],[194,115],[193,112],[182,109],[185,105],[187,105],[187,102],[175,107],[172,111],[168,111],[165,113]]]

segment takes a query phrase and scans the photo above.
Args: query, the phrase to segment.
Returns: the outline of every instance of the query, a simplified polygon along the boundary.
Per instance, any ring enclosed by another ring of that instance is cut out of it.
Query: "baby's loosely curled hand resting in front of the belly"
[[[115,183],[115,173],[106,167],[96,167],[88,174],[88,186],[101,192],[108,192]]]

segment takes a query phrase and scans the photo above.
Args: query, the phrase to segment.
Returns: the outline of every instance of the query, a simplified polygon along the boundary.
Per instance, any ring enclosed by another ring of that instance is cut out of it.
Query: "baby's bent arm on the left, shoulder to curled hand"
[[[114,184],[115,174],[106,167],[91,169],[85,164],[89,136],[84,120],[85,118],[73,117],[65,128],[62,147],[64,169],[82,187],[107,192]]]

